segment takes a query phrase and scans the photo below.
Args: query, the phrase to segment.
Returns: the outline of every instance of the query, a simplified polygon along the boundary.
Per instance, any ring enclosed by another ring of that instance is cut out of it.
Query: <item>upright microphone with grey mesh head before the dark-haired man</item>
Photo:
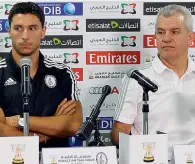
[[[24,57],[20,60],[21,92],[23,97],[30,97],[31,95],[31,80],[30,80],[31,65],[32,65],[31,59],[27,57]]]

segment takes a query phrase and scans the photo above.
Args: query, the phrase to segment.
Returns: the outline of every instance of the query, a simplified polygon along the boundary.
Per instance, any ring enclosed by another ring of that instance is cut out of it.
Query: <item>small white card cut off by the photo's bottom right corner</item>
[[[175,164],[195,163],[195,145],[174,145]]]

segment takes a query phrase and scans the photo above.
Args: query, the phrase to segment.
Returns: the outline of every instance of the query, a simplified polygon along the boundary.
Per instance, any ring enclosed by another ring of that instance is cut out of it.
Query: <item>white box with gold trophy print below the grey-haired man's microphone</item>
[[[168,164],[167,134],[119,134],[120,164]]]

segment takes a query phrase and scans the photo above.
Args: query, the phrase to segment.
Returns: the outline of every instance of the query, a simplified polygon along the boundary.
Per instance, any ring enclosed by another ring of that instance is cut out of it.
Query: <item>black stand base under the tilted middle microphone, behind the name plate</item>
[[[106,146],[101,139],[100,139],[100,132],[98,129],[98,119],[93,120],[93,125],[94,125],[94,139],[89,142],[88,146]]]

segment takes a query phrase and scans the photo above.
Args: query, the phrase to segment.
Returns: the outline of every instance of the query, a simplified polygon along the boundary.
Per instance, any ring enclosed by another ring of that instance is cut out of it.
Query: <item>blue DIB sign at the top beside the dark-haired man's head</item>
[[[47,16],[83,15],[83,3],[37,3]]]

